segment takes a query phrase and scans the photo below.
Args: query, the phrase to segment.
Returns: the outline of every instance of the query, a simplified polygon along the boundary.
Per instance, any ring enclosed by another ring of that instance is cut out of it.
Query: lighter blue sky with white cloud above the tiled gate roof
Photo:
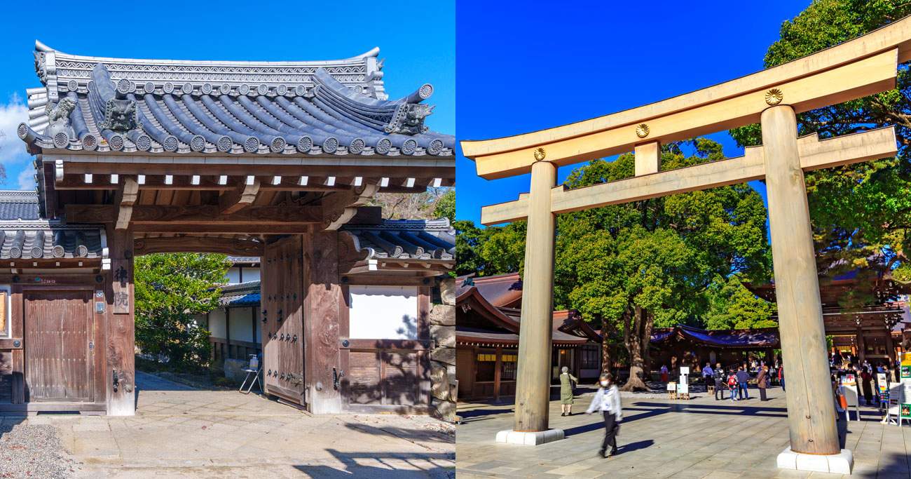
[[[74,8],[73,5],[80,5]],[[215,10],[149,9],[148,2],[6,2],[0,20],[2,188],[34,188],[32,157],[15,135],[26,89],[39,87],[35,40],[96,57],[200,60],[320,60],[380,47],[391,99],[435,87],[430,128],[455,134],[455,0],[433,2],[238,2]],[[161,11],[159,11],[161,10]],[[220,14],[220,13],[221,14]],[[262,13],[262,15],[260,14]]]

